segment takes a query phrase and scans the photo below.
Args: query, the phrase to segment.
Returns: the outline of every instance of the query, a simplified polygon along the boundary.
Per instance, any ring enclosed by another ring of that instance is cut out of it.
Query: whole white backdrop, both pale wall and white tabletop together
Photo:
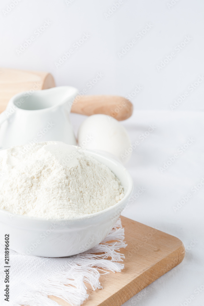
[[[131,99],[135,107],[132,118],[122,124],[132,143],[147,131],[150,124],[157,128],[133,152],[127,164],[134,179],[133,194],[140,187],[146,191],[123,214],[179,237],[187,253],[178,267],[125,305],[203,306],[204,291],[198,295],[194,291],[204,284],[204,188],[200,188],[178,211],[175,212],[173,207],[204,176],[204,114],[200,111],[203,110],[204,81],[192,92],[188,90],[188,86],[204,73],[204,2],[179,0],[169,8],[170,0],[127,0],[106,19],[104,13],[108,13],[116,2],[74,0],[67,5],[63,0],[21,0],[4,16],[3,10],[12,2],[1,1],[0,65],[49,71],[57,85],[72,85],[80,90],[86,88],[97,73],[103,73],[102,79],[88,90],[88,94],[126,96],[136,86],[142,87]],[[50,26],[18,55],[16,50],[46,20],[51,22]],[[119,58],[118,52],[135,39],[147,23],[152,24],[152,28]],[[57,68],[55,62],[59,62],[83,33],[90,37]],[[185,36],[191,40],[177,53],[174,48],[184,41]],[[158,71],[157,65],[172,51],[175,57]],[[185,91],[189,95],[172,111],[170,105]],[[71,118],[77,132],[84,117],[72,114]],[[159,167],[186,144],[189,137],[195,139],[192,146],[161,172]],[[197,241],[193,247],[192,240]],[[187,302],[192,294],[195,299]]]

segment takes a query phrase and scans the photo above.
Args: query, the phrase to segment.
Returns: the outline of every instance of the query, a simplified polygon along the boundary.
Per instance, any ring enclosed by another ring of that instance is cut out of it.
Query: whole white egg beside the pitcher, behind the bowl
[[[78,131],[78,144],[85,149],[106,151],[122,163],[130,159],[132,151],[124,126],[102,114],[92,115],[82,122]]]

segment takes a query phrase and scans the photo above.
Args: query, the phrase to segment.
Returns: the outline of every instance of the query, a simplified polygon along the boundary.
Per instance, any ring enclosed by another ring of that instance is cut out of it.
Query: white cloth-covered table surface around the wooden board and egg
[[[71,114],[75,132],[84,118]],[[146,189],[122,215],[180,238],[186,248],[179,266],[123,305],[203,306],[204,113],[135,110],[121,124],[132,144],[140,142],[126,165],[134,179],[133,195],[140,187]],[[142,141],[140,135],[152,124],[154,131]],[[174,154],[178,155],[175,161],[160,170]],[[189,200],[178,205],[189,193]],[[177,205],[181,206],[178,210],[173,208]]]

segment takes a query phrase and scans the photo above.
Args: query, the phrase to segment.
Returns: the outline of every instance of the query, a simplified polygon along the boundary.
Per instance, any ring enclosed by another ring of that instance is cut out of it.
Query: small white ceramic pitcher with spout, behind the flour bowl
[[[0,147],[49,140],[76,145],[69,113],[77,93],[60,86],[13,96],[0,114]]]

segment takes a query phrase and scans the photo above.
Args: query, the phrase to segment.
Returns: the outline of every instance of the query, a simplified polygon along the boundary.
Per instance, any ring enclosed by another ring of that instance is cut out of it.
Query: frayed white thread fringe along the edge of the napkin
[[[109,235],[91,250],[72,257],[62,269],[46,281],[39,282],[37,290],[25,292],[10,306],[59,306],[48,296],[59,297],[72,306],[80,306],[88,298],[87,284],[93,290],[102,289],[99,282],[101,274],[108,271],[121,272],[125,258],[118,252],[125,248],[124,229],[119,219]],[[96,254],[99,253],[99,254]]]

